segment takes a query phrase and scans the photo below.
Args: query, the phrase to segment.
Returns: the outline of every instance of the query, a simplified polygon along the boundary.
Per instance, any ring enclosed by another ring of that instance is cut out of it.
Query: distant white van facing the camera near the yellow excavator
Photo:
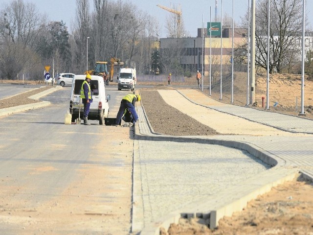
[[[117,79],[118,79],[117,84],[118,91],[126,89],[131,90],[133,92],[137,82],[136,69],[131,68],[120,69]]]

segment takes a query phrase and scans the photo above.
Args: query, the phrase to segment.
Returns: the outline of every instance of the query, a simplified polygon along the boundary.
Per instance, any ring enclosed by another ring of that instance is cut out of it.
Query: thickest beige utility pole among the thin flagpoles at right
[[[250,72],[250,104],[255,102],[255,0],[251,0],[251,72]]]

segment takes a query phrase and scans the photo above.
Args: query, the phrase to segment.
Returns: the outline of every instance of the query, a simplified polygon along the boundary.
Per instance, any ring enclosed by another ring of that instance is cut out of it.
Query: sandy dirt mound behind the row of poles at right
[[[234,75],[235,105],[246,105],[246,73],[237,72]],[[231,102],[231,78],[222,80],[222,102]],[[204,91],[208,94],[208,91]],[[220,99],[220,82],[217,81],[211,86],[211,96]],[[262,97],[264,97],[264,107],[262,107]],[[267,75],[256,74],[255,76],[255,105],[251,107],[266,109],[267,104]],[[250,97],[249,97],[250,103]],[[270,74],[268,89],[269,112],[279,112],[298,116],[301,111],[301,75],[296,74]],[[313,119],[313,81],[305,79],[304,82],[304,112],[305,118]]]

